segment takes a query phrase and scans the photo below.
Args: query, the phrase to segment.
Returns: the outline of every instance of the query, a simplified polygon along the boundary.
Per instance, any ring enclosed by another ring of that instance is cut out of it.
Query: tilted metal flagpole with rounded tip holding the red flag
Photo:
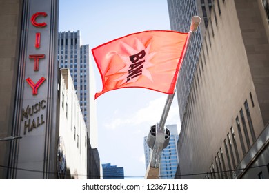
[[[188,43],[190,42],[190,38],[192,32],[195,32],[201,22],[201,18],[198,16],[192,17],[189,38],[186,45],[186,49],[188,48]],[[147,143],[150,148],[152,148],[151,156],[150,156],[150,164],[148,165],[148,170],[146,171],[146,179],[159,179],[159,166],[161,162],[161,151],[163,148],[166,148],[170,139],[170,131],[164,127],[166,123],[166,119],[168,116],[168,112],[170,110],[170,106],[172,104],[172,100],[174,98],[175,91],[173,94],[168,94],[166,99],[166,104],[163,109],[163,114],[161,115],[160,123],[155,125],[155,131],[152,132],[152,128],[150,129],[150,134],[148,135]],[[168,130],[168,131],[167,131]],[[154,145],[153,145],[153,143]]]

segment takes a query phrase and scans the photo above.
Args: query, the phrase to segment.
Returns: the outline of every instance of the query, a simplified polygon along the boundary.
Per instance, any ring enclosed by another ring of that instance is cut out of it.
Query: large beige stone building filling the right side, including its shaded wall
[[[266,26],[261,18],[264,10],[258,0],[219,1],[219,7],[215,3],[212,9],[179,135],[182,179],[232,178],[232,172],[210,172],[234,170],[269,121],[269,44],[268,23]],[[255,137],[250,132],[246,101]]]

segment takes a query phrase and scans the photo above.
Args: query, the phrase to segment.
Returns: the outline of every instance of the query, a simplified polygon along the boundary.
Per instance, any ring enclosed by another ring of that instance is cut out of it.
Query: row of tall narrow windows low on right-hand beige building
[[[250,100],[252,102],[252,107],[254,107],[251,92],[250,92]],[[248,149],[250,148],[251,144],[255,142],[256,136],[255,136],[255,131],[253,128],[247,100],[244,102],[244,107],[245,107],[245,113],[248,119],[248,127],[246,125],[246,119],[245,119],[242,108],[239,111],[239,116],[237,116],[235,119],[235,124],[237,125],[237,134],[239,136],[240,145],[239,146],[237,145],[238,141],[237,141],[237,137],[236,137],[233,126],[230,128],[230,132],[228,132],[226,138],[223,140],[228,168],[226,168],[226,161],[224,159],[223,149],[221,147],[219,148],[219,152],[217,152],[217,155],[215,156],[215,160],[212,161],[209,167],[209,172],[206,174],[205,179],[232,178],[232,171],[235,170],[235,168],[237,167],[237,165],[239,164],[241,160],[239,156],[239,152],[242,152],[242,155],[241,155],[241,158],[242,158],[246,154]],[[240,117],[240,121],[239,121],[239,117]],[[243,127],[243,132],[241,130],[241,125]],[[249,132],[252,136],[251,142],[250,142]]]

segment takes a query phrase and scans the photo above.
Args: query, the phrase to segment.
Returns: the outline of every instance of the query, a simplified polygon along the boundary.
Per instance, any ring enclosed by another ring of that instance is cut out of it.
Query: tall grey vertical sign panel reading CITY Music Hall
[[[54,167],[59,0],[23,1],[9,178],[48,179]]]

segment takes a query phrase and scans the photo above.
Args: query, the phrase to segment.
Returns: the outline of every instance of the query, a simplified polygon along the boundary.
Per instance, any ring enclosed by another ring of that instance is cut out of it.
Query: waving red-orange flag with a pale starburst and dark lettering
[[[103,90],[148,88],[172,94],[189,34],[152,30],[129,34],[92,49]]]

